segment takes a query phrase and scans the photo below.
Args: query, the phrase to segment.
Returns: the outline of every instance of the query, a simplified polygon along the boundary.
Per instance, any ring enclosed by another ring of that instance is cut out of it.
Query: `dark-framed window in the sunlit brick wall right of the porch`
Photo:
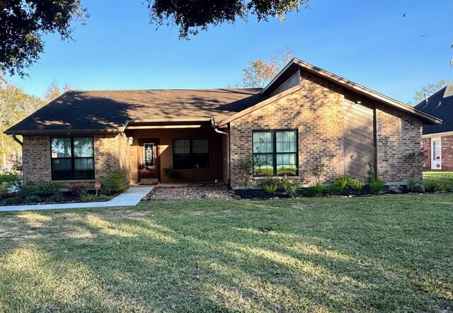
[[[253,131],[253,176],[297,176],[297,130]]]

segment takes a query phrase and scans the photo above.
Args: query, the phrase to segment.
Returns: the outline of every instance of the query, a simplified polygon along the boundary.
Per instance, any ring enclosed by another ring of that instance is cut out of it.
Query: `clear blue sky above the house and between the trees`
[[[241,79],[247,62],[285,48],[403,102],[420,86],[453,79],[451,0],[311,0],[284,23],[251,16],[188,41],[177,28],[149,25],[141,0],[82,2],[91,17],[76,26],[75,41],[45,36],[30,77],[13,76],[13,84],[35,96],[52,81],[82,90],[223,88]]]

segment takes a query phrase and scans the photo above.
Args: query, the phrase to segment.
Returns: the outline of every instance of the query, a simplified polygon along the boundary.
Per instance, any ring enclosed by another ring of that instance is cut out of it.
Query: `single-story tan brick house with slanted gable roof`
[[[264,89],[68,91],[6,131],[23,136],[25,181],[224,181],[243,186],[238,161],[253,153],[252,183],[323,181],[369,171],[404,182],[422,167],[422,125],[440,120],[293,59]],[[18,140],[20,141],[20,140]],[[174,176],[178,176],[175,178]]]

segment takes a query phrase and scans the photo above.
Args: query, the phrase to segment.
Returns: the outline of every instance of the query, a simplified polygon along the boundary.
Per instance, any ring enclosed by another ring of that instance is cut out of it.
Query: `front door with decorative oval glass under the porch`
[[[138,147],[138,172],[140,183],[158,183],[160,178],[158,139],[140,139]]]

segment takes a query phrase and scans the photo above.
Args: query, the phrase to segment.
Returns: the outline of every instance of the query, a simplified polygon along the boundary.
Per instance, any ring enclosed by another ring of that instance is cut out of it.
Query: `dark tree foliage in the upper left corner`
[[[0,70],[25,76],[44,50],[42,35],[59,33],[69,40],[74,20],[88,17],[80,0],[0,1]]]

